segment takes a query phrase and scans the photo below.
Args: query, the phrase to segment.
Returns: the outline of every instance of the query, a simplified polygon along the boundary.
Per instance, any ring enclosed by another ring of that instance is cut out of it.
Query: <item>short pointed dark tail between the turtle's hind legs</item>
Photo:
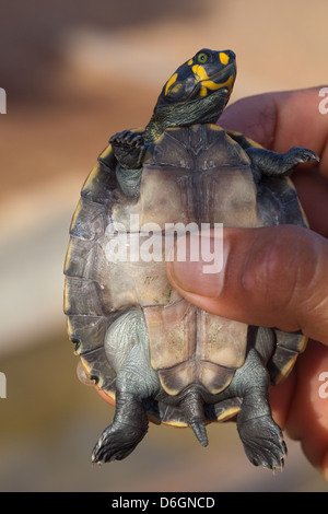
[[[180,402],[180,408],[183,409],[187,423],[192,429],[200,444],[207,446],[209,441],[201,394],[196,388],[188,388],[187,394]]]

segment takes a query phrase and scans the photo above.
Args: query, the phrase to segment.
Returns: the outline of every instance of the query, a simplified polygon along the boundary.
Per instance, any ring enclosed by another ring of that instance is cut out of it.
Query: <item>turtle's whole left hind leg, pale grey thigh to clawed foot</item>
[[[121,460],[148,431],[143,399],[153,398],[159,378],[150,364],[147,326],[139,308],[121,314],[105,336],[105,353],[117,370],[116,410],[92,454],[94,463]]]

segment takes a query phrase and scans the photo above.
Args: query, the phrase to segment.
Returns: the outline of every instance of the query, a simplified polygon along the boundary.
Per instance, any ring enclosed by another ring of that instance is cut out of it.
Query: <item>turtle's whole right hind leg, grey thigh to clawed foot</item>
[[[257,351],[250,349],[245,364],[236,371],[227,394],[242,398],[237,430],[245,453],[255,466],[282,468],[286,446],[269,405],[270,378]]]

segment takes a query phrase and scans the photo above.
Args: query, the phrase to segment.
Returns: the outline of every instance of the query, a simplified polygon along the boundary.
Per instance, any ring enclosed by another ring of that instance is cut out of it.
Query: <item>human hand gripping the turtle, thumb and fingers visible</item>
[[[204,274],[202,261],[173,261],[167,274],[206,311],[309,338],[289,377],[270,389],[271,406],[276,421],[301,441],[328,481],[328,114],[319,112],[319,90],[244,98],[220,118],[221,126],[267,149],[305,147],[319,155],[319,163],[292,175],[309,229],[224,229],[227,258],[220,273]]]

